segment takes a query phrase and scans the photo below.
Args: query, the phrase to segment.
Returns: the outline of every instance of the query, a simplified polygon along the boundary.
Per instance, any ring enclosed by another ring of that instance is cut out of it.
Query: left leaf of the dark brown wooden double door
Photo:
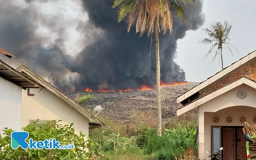
[[[223,128],[223,160],[236,160],[234,140],[236,139],[236,128]]]

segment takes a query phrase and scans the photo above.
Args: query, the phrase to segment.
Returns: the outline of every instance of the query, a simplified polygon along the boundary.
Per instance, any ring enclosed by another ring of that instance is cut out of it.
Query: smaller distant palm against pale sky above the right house
[[[236,49],[232,44],[228,43],[230,41],[230,38],[228,37],[231,29],[231,25],[227,23],[227,21],[224,21],[224,24],[221,24],[221,22],[215,22],[211,24],[209,28],[204,28],[204,32],[209,36],[209,38],[204,38],[201,41],[198,41],[199,43],[203,44],[212,44],[212,46],[209,48],[208,53],[205,55],[204,58],[206,58],[212,50],[217,47],[217,50],[215,52],[215,55],[213,57],[212,62],[215,60],[216,56],[221,54],[221,69],[223,70],[223,57],[222,57],[222,49],[224,45],[227,47],[227,49],[230,50],[231,54],[233,55],[232,50],[230,49],[229,45],[232,46],[234,49]],[[236,49],[237,50],[237,49]],[[239,52],[237,50],[237,52]]]

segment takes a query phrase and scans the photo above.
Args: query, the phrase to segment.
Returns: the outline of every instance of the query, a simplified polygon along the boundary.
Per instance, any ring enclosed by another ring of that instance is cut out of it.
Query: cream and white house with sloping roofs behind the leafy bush
[[[0,130],[8,127],[20,131],[36,119],[40,119],[38,123],[62,120],[59,123],[64,125],[74,122],[76,134],[82,131],[86,139],[89,129],[105,127],[98,118],[32,70],[25,66],[15,70],[1,60],[0,107]]]

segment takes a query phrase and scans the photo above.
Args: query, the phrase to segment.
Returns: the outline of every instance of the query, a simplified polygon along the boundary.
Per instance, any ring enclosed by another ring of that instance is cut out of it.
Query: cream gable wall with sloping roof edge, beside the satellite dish
[[[36,88],[23,90],[21,127],[28,125],[36,119],[40,119],[40,122],[62,120],[58,123],[63,125],[70,125],[74,122],[75,133],[79,134],[82,131],[85,134],[85,139],[87,139],[89,137],[89,128],[105,126],[103,122],[86,111],[73,99],[70,99],[29,68],[22,65],[17,70],[44,87],[43,90]]]

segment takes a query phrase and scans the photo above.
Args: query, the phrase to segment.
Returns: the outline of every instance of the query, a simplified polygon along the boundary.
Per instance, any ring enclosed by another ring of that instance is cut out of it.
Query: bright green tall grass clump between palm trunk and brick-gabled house
[[[166,160],[174,160],[184,158],[187,150],[193,150],[193,154],[197,153],[197,145],[194,144],[196,127],[195,125],[182,126],[178,128],[165,129],[161,137],[153,135],[149,137],[146,152],[148,154],[158,153],[159,158]]]

